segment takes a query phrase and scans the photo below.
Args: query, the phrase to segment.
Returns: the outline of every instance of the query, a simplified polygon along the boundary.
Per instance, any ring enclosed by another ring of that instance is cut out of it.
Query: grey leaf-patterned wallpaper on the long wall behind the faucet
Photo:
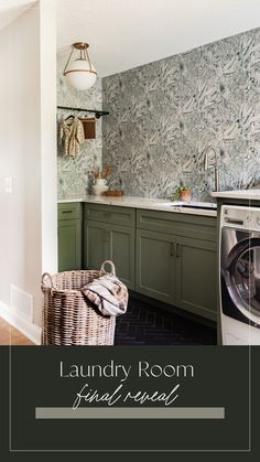
[[[208,200],[208,147],[221,190],[260,182],[260,29],[105,77],[102,103],[112,189],[167,197],[182,181]]]

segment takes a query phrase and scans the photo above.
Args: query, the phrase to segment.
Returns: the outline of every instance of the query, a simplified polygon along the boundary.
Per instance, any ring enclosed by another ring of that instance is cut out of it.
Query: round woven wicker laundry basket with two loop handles
[[[105,273],[100,271],[65,271],[44,273],[43,345],[113,345],[116,316],[104,316],[84,298],[80,289]]]

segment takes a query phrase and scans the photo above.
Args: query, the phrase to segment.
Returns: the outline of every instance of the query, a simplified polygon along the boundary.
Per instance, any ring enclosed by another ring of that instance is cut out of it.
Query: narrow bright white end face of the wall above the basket
[[[57,271],[56,1],[42,0],[41,186],[42,272]]]

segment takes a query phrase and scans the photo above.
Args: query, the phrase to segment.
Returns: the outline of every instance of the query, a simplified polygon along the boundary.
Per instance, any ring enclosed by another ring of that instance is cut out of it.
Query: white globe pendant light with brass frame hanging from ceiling
[[[74,88],[78,90],[88,89],[97,79],[97,72],[89,60],[87,51],[89,45],[88,43],[77,42],[72,46],[63,75]],[[79,52],[79,57],[72,60],[75,50]]]

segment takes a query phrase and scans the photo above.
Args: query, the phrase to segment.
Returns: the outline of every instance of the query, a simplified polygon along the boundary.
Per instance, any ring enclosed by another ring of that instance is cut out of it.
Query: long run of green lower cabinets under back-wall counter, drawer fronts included
[[[112,260],[129,289],[216,320],[215,218],[97,204],[84,216],[84,268]]]

